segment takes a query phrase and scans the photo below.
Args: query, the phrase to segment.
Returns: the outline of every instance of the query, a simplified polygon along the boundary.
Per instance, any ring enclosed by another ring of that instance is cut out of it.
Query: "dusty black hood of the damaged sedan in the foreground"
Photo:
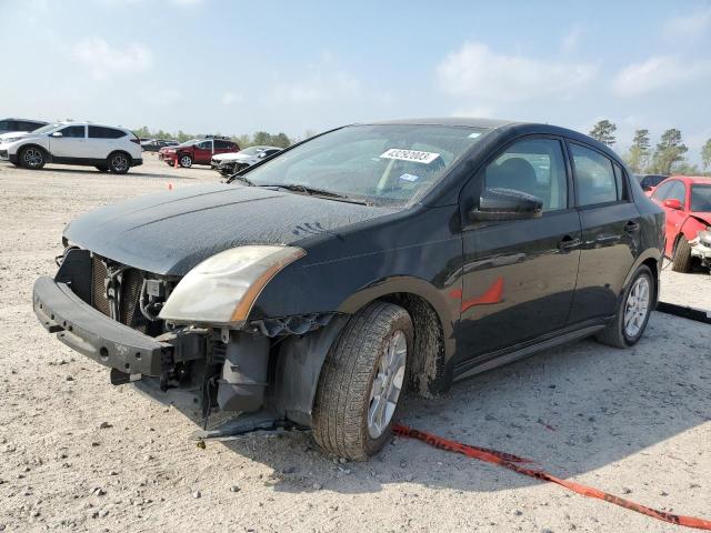
[[[200,261],[230,248],[297,244],[392,212],[273,189],[216,183],[100,208],[71,222],[64,237],[137,269],[184,275]]]

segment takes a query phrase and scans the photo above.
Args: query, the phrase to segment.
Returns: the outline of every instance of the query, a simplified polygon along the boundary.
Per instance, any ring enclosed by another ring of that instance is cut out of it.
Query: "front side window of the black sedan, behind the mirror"
[[[514,142],[483,170],[484,189],[513,189],[543,202],[543,211],[568,208],[568,179],[560,141]]]

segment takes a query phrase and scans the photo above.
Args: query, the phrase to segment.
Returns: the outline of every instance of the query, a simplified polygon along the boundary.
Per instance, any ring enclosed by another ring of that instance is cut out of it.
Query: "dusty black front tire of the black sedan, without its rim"
[[[404,333],[410,355],[412,321],[408,312],[398,305],[373,302],[346,324],[326,358],[316,395],[313,438],[323,450],[362,461],[378,453],[390,438],[403,394],[398,399],[387,429],[377,439],[368,430],[368,411],[381,353],[398,331]],[[403,383],[407,383],[407,378]]]

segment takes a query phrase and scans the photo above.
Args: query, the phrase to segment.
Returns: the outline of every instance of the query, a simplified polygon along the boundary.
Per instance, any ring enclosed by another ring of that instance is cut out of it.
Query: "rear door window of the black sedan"
[[[623,198],[618,189],[612,161],[592,149],[571,144],[579,205],[617,202]]]

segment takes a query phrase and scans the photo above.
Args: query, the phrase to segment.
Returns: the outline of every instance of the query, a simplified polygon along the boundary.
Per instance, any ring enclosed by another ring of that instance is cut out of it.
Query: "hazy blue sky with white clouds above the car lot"
[[[0,0],[0,114],[302,135],[481,115],[711,138],[711,1]]]

